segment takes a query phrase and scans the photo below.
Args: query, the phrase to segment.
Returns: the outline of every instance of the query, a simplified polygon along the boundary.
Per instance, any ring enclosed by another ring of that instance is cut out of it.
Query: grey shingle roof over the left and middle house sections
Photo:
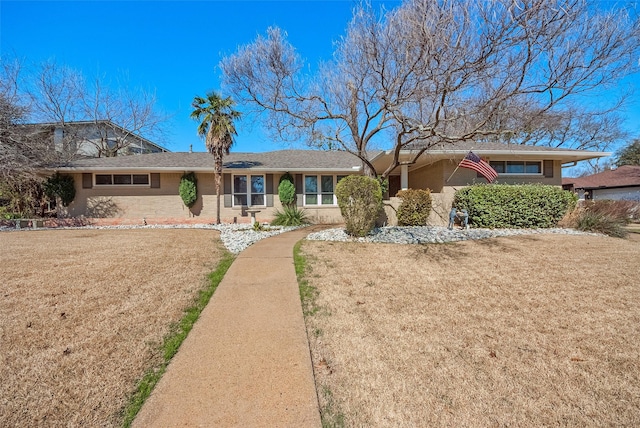
[[[354,171],[361,161],[344,151],[278,150],[264,153],[230,153],[224,157],[223,168],[253,169],[256,171]],[[149,153],[112,158],[91,158],[73,161],[60,170],[189,170],[213,171],[213,156],[198,153]]]

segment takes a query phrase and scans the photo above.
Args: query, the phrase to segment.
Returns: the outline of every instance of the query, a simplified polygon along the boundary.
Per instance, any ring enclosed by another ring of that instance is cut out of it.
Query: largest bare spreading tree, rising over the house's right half
[[[632,70],[639,35],[627,10],[587,0],[408,0],[380,15],[356,7],[316,72],[278,28],[220,67],[285,140],[349,151],[370,175],[367,150],[391,140],[386,177],[407,148],[415,156],[402,163],[464,140],[581,147],[580,133],[615,109],[580,106]]]

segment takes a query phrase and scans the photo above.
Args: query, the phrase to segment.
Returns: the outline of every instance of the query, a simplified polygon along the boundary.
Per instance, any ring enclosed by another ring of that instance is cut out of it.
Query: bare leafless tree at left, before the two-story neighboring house
[[[104,76],[87,83],[80,72],[55,61],[41,64],[30,80],[32,118],[62,128],[68,154],[129,154],[134,139],[162,138],[165,133],[167,116],[157,110],[155,94],[148,91],[112,86]],[[70,122],[92,126],[68,126]]]

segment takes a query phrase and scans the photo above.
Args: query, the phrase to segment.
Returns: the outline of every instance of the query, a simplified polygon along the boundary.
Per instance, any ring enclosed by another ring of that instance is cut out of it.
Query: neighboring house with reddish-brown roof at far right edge
[[[624,165],[585,177],[563,178],[562,188],[576,192],[580,199],[640,201],[640,166]]]

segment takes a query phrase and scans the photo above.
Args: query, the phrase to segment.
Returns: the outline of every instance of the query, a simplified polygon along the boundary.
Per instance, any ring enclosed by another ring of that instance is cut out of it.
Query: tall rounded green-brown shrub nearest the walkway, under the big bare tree
[[[382,211],[378,180],[363,175],[347,176],[336,185],[336,197],[349,235],[366,236],[373,230]]]

